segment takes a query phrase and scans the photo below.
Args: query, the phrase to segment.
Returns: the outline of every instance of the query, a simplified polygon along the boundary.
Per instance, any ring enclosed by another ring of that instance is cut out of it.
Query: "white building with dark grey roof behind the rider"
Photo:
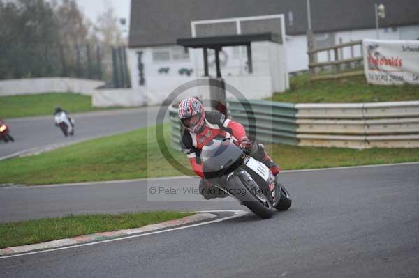
[[[316,46],[376,38],[375,2],[311,1]],[[276,33],[285,38],[283,68],[287,72],[307,70],[306,3],[306,0],[133,0],[128,50],[132,87],[147,95],[147,102],[153,104],[160,103],[177,86],[202,77],[202,50],[185,51],[184,47],[176,45],[178,38],[193,36]],[[386,17],[380,20],[380,38],[419,39],[418,0],[381,3],[385,5]],[[275,15],[281,15],[281,19]],[[244,17],[256,17],[260,21],[251,26],[246,22],[239,26],[235,19]],[[208,25],[209,22],[212,24]],[[223,48],[220,60],[226,82],[244,91],[249,98],[266,98],[274,91],[284,91],[288,87],[286,79],[274,75],[267,63],[272,55],[267,44],[252,43],[251,51],[253,72],[249,73],[246,47]],[[360,56],[360,47],[345,49],[342,54],[344,58]],[[318,57],[319,61],[328,59],[330,56],[325,53]],[[209,63],[210,75],[215,76],[214,52],[209,52]],[[272,85],[275,82],[284,86],[278,90],[278,86]]]

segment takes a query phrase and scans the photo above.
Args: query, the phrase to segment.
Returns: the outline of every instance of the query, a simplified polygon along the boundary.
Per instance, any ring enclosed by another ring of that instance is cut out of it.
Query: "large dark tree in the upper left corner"
[[[0,0],[0,79],[50,75],[57,17],[43,0]]]

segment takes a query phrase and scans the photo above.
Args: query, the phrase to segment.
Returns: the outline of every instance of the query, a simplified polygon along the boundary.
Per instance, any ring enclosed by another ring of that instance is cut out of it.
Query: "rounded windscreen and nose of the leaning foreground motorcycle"
[[[200,153],[205,178],[232,172],[242,164],[242,150],[230,141],[212,140]]]

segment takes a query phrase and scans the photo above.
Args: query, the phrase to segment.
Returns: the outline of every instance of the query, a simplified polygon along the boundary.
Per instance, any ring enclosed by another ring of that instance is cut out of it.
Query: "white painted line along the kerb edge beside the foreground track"
[[[42,250],[42,251],[36,251],[36,252],[29,252],[29,253],[23,253],[23,254],[15,254],[15,255],[11,255],[11,256],[1,256],[0,260],[5,259],[5,258],[14,258],[14,257],[18,257],[18,256],[27,256],[27,255],[32,255],[32,254],[41,254],[41,253],[47,253],[47,252],[54,252],[54,251],[59,251],[59,250],[64,250],[64,249],[73,249],[73,248],[77,248],[77,247],[84,247],[84,246],[89,246],[89,245],[99,245],[102,243],[107,243],[107,242],[114,242],[114,241],[119,241],[119,240],[127,240],[129,238],[140,238],[146,235],[155,235],[157,233],[166,233],[169,231],[177,231],[177,230],[183,230],[183,229],[189,229],[189,228],[193,228],[196,226],[203,226],[203,225],[207,225],[207,224],[213,224],[213,223],[217,223],[217,222],[223,222],[229,219],[234,219],[234,218],[238,218],[238,217],[242,217],[244,215],[247,215],[248,212],[244,211],[244,210],[220,210],[219,212],[234,212],[235,214],[232,216],[228,216],[228,217],[223,217],[220,219],[215,219],[209,222],[202,222],[202,223],[197,223],[197,224],[191,224],[188,226],[182,226],[182,227],[177,227],[177,228],[173,228],[173,229],[167,229],[167,230],[163,230],[163,231],[154,231],[151,233],[142,233],[140,235],[130,235],[130,236],[126,236],[124,238],[114,238],[112,240],[103,240],[103,241],[98,241],[98,242],[89,242],[89,243],[84,243],[81,245],[72,245],[72,246],[67,246],[67,247],[60,247],[60,248],[56,248],[56,249],[47,249],[47,250]]]

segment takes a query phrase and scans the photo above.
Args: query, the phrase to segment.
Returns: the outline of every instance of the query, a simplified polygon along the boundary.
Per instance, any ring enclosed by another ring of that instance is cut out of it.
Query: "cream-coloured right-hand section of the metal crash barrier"
[[[300,146],[419,147],[419,101],[300,104]]]

